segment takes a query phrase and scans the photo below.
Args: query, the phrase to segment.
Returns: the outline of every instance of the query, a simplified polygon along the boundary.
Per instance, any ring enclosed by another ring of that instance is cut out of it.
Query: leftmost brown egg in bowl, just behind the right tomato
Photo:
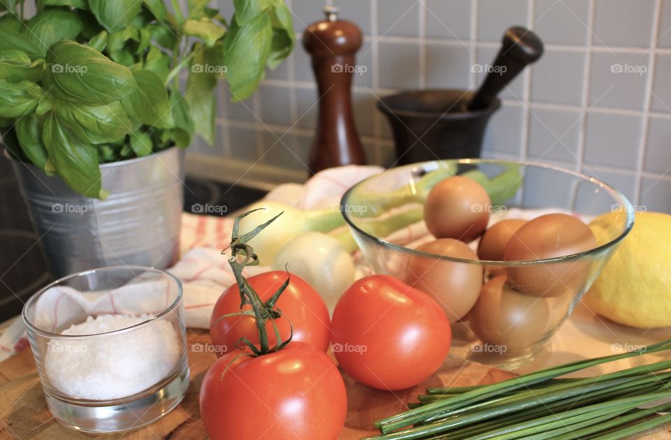
[[[467,244],[452,238],[440,238],[422,244],[418,251],[428,254],[477,260]],[[468,314],[482,288],[482,266],[412,256],[407,264],[405,282],[431,295],[454,323]]]

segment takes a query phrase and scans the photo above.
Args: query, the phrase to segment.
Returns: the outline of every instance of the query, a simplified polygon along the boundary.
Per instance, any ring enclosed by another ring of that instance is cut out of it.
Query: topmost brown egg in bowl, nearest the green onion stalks
[[[491,200],[482,185],[468,177],[449,177],[436,184],[424,203],[426,228],[436,238],[470,242],[489,222]]]

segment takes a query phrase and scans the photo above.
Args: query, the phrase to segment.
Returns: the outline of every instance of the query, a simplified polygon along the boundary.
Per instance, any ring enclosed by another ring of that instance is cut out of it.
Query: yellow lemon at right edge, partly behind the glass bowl
[[[599,244],[612,240],[624,214],[603,214],[590,223]],[[584,302],[616,323],[637,328],[671,325],[671,215],[638,212],[634,228],[594,281]]]

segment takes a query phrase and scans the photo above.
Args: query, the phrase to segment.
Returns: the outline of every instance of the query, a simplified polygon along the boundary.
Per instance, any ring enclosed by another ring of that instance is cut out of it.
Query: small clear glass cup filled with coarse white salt
[[[182,284],[149,267],[80,272],[35,293],[23,321],[53,416],[83,432],[153,423],[189,388]]]

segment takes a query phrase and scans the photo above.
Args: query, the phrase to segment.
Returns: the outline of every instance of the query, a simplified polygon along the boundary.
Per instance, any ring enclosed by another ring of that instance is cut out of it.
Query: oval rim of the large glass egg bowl
[[[423,252],[423,251],[417,251],[417,249],[411,249],[409,247],[404,247],[401,246],[400,244],[394,244],[391,242],[387,242],[387,240],[382,240],[380,237],[376,237],[373,234],[370,234],[366,232],[365,230],[362,230],[359,228],[359,226],[356,226],[354,221],[349,217],[349,210],[347,210],[347,199],[349,198],[350,193],[352,191],[356,190],[359,188],[359,186],[365,184],[369,180],[375,178],[375,177],[380,177],[384,173],[388,173],[390,171],[396,171],[396,170],[403,170],[403,169],[412,169],[412,168],[425,168],[426,164],[429,163],[456,163],[457,165],[472,165],[472,164],[477,164],[477,163],[491,163],[492,165],[517,165],[517,166],[528,166],[528,167],[533,167],[533,168],[541,168],[541,169],[547,169],[547,170],[553,170],[558,173],[563,173],[567,175],[572,175],[575,177],[579,177],[580,179],[590,182],[591,184],[595,184],[599,186],[600,188],[605,189],[608,191],[611,196],[615,199],[619,198],[620,200],[615,200],[616,203],[620,203],[620,205],[624,208],[624,213],[626,214],[626,224],[624,226],[623,231],[615,237],[613,240],[610,240],[609,242],[606,242],[604,244],[600,244],[597,247],[593,247],[591,249],[588,249],[587,251],[584,252],[579,252],[577,254],[569,254],[569,255],[563,255],[563,256],[558,256],[554,258],[539,258],[537,260],[518,260],[518,261],[493,261],[493,260],[471,260],[469,258],[455,258],[455,257],[450,257],[450,256],[444,256],[444,255],[439,255],[439,254],[430,254],[428,252]],[[476,264],[476,265],[496,265],[496,266],[507,266],[507,267],[517,267],[517,266],[526,266],[526,265],[536,265],[536,264],[542,264],[542,263],[557,263],[561,261],[572,261],[572,260],[577,260],[579,258],[583,258],[584,256],[588,256],[591,254],[598,254],[600,251],[603,251],[605,249],[608,249],[609,247],[612,247],[614,244],[617,244],[620,242],[626,235],[630,232],[630,230],[634,226],[634,207],[631,205],[630,201],[626,196],[624,196],[623,193],[620,191],[614,189],[612,186],[609,184],[606,184],[600,179],[597,179],[596,177],[591,177],[589,175],[586,175],[584,173],[580,173],[579,171],[575,170],[569,170],[568,168],[563,168],[561,166],[554,166],[549,163],[543,163],[543,162],[538,162],[538,161],[521,161],[521,160],[508,160],[508,159],[482,159],[482,158],[477,158],[477,159],[435,159],[433,161],[424,161],[424,162],[417,162],[417,163],[409,163],[404,166],[396,167],[396,168],[388,168],[387,170],[384,170],[380,173],[377,173],[375,175],[366,177],[366,179],[361,180],[361,182],[357,182],[356,184],[352,185],[345,191],[345,193],[342,195],[342,198],[340,199],[340,212],[342,212],[342,217],[345,218],[345,222],[347,225],[352,228],[356,233],[359,233],[363,235],[364,237],[368,238],[368,240],[372,240],[375,242],[375,244],[378,244],[384,248],[387,248],[391,251],[399,251],[403,252],[405,254],[410,254],[414,256],[420,256],[420,257],[426,257],[426,258],[433,258],[433,259],[438,259],[442,261],[452,261],[454,263],[468,263],[468,264]]]

